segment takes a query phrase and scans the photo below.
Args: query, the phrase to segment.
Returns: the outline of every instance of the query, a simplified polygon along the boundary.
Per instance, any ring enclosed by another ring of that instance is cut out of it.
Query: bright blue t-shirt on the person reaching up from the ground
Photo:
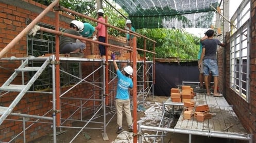
[[[116,90],[116,99],[129,99],[128,88],[133,87],[133,83],[130,77],[125,76],[120,70],[116,70],[118,82]]]

